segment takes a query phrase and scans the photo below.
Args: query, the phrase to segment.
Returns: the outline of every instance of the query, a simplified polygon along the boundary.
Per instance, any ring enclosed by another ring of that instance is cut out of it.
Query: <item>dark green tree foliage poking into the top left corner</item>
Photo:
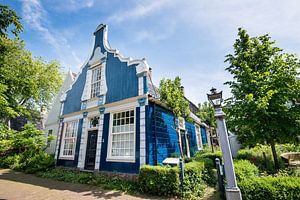
[[[0,4],[0,35],[7,37],[10,30],[12,34],[18,37],[19,33],[23,30],[20,19],[14,10]]]

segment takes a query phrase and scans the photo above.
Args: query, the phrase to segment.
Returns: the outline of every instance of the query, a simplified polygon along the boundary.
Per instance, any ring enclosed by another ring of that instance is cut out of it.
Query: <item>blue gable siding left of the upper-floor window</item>
[[[67,92],[66,101],[64,102],[63,115],[79,111],[81,109],[81,96],[85,85],[88,64],[82,69],[78,75],[72,89]]]

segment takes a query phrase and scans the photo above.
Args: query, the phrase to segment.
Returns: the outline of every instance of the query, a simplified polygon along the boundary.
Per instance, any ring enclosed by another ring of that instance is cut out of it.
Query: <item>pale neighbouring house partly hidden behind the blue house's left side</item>
[[[49,154],[55,153],[56,138],[58,135],[59,128],[59,118],[62,115],[62,103],[60,101],[60,98],[71,87],[73,81],[75,80],[75,77],[76,74],[72,73],[71,70],[69,70],[66,73],[64,83],[62,84],[59,92],[57,93],[57,96],[52,104],[51,110],[47,114],[44,133],[46,137],[53,135],[55,138],[55,140],[50,142],[49,147],[46,149],[46,151]]]

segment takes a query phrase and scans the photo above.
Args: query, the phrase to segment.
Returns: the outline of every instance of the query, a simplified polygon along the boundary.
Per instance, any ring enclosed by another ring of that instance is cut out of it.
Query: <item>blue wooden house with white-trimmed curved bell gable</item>
[[[107,26],[94,32],[94,47],[86,63],[61,96],[55,148],[58,166],[86,170],[138,173],[179,155],[174,116],[159,101],[145,59],[123,57],[107,40]],[[186,156],[207,143],[205,127],[181,122]],[[182,119],[180,119],[182,120]]]

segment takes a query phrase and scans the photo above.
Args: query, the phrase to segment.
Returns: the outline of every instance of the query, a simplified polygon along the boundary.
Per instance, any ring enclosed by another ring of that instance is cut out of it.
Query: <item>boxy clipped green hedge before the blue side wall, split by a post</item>
[[[185,164],[184,193],[181,194],[180,169],[178,167],[145,165],[140,169],[139,186],[144,193],[196,198],[204,193],[203,170],[203,162],[192,161]]]

